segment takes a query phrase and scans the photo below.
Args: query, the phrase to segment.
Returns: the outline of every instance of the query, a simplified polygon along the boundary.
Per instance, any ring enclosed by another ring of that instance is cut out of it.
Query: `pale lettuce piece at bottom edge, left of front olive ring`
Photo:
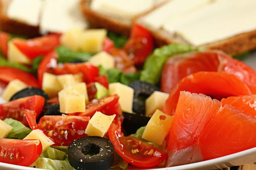
[[[29,167],[46,169],[46,170],[75,170],[68,160],[59,161],[52,160],[49,158],[38,158],[32,165]]]

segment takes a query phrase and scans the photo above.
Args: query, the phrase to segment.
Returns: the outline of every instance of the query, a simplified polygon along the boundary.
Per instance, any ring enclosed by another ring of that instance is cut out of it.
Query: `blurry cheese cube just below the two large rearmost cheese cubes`
[[[113,58],[113,56],[105,51],[95,54],[92,58],[90,58],[90,62],[96,66],[101,65],[103,68],[106,69],[111,69],[115,67],[115,59]]]

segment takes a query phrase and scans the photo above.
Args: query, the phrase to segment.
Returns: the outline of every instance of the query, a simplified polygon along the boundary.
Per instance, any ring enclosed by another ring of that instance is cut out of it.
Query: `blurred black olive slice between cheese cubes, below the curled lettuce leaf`
[[[160,89],[155,85],[142,81],[132,82],[129,86],[134,89],[132,110],[135,113],[145,115],[145,99],[147,99],[154,91],[160,91]]]

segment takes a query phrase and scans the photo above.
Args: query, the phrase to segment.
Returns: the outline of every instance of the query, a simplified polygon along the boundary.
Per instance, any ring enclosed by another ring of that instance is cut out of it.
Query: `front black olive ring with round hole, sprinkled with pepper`
[[[114,161],[114,148],[106,138],[83,137],[69,145],[68,161],[76,170],[108,170]]]

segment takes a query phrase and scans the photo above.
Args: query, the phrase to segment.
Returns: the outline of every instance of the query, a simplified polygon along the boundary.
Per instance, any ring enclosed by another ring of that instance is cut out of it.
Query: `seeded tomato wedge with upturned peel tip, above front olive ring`
[[[43,116],[38,124],[35,121],[35,112],[24,111],[31,129],[40,129],[52,139],[57,146],[68,146],[76,139],[87,136],[84,133],[90,117],[87,116]]]

